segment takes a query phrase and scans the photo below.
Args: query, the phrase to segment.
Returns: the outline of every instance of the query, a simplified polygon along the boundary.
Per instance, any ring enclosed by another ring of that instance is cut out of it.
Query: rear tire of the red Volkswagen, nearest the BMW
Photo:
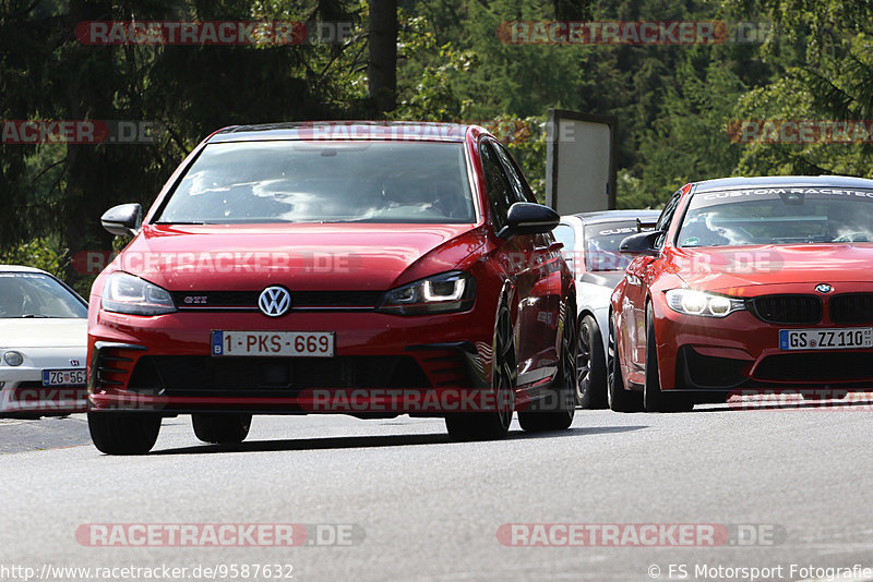
[[[535,402],[530,410],[518,412],[518,424],[528,432],[564,431],[573,424],[576,414],[578,380],[576,376],[576,310],[567,310],[564,329],[561,334],[561,357],[558,374],[552,381],[551,393],[545,400]],[[538,407],[539,404],[539,407]],[[537,410],[545,408],[546,410]]]

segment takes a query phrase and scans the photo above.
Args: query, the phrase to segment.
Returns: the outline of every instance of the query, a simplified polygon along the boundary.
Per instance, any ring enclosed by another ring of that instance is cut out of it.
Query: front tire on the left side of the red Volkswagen
[[[106,454],[145,454],[155,446],[160,415],[144,412],[88,412],[88,432]]]

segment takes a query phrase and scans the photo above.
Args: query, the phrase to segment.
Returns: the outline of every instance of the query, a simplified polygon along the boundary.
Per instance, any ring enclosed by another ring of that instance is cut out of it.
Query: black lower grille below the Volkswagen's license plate
[[[128,389],[162,396],[296,396],[303,389],[430,388],[410,356],[145,355]]]

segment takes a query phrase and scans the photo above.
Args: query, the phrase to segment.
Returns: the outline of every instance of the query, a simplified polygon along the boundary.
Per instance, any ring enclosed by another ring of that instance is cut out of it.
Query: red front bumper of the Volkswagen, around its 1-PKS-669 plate
[[[213,356],[213,330],[333,331],[333,357]],[[490,405],[492,318],[475,312],[99,312],[88,334],[89,409],[444,415]]]

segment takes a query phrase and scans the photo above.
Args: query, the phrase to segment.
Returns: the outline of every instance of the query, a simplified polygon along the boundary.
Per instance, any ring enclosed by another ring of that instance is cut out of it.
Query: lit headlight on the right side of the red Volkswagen
[[[476,300],[476,280],[462,271],[443,272],[386,291],[378,311],[398,315],[463,312]]]

